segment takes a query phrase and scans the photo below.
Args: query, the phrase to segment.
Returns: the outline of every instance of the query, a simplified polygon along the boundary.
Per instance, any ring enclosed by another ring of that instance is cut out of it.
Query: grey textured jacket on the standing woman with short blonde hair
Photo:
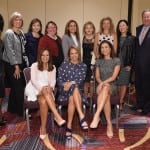
[[[4,35],[3,60],[10,65],[22,64],[22,51],[19,38],[12,29],[8,29]]]

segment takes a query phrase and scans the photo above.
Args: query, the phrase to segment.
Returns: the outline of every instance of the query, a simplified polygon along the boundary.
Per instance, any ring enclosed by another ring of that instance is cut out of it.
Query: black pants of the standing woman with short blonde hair
[[[20,68],[23,70],[22,66]],[[24,87],[25,79],[23,72],[20,73],[20,78],[14,78],[14,66],[5,63],[5,72],[8,81],[10,82],[10,95],[8,101],[8,111],[23,116],[23,102],[24,102]]]

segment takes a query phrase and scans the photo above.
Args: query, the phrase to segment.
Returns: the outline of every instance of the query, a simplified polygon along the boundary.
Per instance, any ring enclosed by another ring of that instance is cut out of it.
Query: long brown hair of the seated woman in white
[[[37,59],[38,69],[43,71],[43,62],[41,60],[41,57],[42,57],[42,54],[44,51],[48,51],[48,53],[49,53],[48,71],[52,71],[54,69],[53,61],[52,61],[52,54],[48,48],[43,48],[43,49],[39,50],[39,52],[38,52],[38,59]]]

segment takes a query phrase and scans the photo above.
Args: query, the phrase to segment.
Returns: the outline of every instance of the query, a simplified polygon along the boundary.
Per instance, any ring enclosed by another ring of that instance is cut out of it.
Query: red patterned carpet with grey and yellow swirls
[[[39,136],[40,119],[33,117],[30,121],[31,136],[27,135],[26,121],[15,115],[6,113],[8,123],[4,127],[0,127],[0,138],[6,136],[6,140],[0,145],[0,150],[46,150]],[[63,117],[66,118],[66,110]],[[86,118],[90,124],[92,116],[89,109],[86,111]],[[150,149],[150,115],[140,116],[132,112],[126,106],[123,112],[120,113],[119,129],[114,125],[114,137],[109,139],[106,136],[106,124],[99,124],[95,130],[89,129],[87,132],[82,131],[79,126],[78,117],[75,116],[73,121],[73,131],[78,138],[66,140],[65,126],[54,128],[51,125],[51,118],[48,118],[47,131],[49,138],[57,150],[130,150],[128,146],[138,143],[138,146],[133,150],[149,150]],[[78,140],[77,140],[78,139]],[[145,142],[143,142],[146,139]],[[133,146],[134,147],[134,146]]]

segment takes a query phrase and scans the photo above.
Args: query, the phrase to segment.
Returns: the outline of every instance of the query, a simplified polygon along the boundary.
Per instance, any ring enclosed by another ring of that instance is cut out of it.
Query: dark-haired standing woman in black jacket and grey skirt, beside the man
[[[123,109],[124,97],[130,82],[131,69],[135,58],[135,37],[131,35],[126,20],[119,20],[116,28],[118,38],[118,57],[121,60],[121,70],[118,77],[118,92],[120,97],[120,110]]]

